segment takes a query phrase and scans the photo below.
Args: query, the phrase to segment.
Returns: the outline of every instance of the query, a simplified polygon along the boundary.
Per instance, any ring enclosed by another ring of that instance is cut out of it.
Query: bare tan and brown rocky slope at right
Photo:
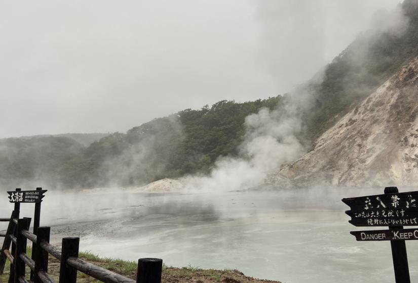
[[[273,185],[418,184],[418,58],[271,175]]]

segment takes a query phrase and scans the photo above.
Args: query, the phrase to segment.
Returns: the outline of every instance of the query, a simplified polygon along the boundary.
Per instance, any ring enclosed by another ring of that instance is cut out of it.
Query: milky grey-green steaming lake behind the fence
[[[47,192],[41,225],[81,250],[173,266],[236,268],[282,282],[394,282],[390,242],[356,242],[340,199],[376,191],[284,190],[217,194]],[[4,215],[11,204],[1,203]],[[30,208],[29,208],[30,207]],[[22,216],[33,213],[23,205]],[[8,212],[9,211],[9,212]],[[47,216],[51,215],[51,216]],[[418,241],[407,241],[418,280]]]

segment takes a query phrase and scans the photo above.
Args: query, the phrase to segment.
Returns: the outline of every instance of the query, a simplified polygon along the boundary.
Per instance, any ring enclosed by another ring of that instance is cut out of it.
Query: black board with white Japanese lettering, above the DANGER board
[[[418,192],[347,198],[354,226],[418,226]]]

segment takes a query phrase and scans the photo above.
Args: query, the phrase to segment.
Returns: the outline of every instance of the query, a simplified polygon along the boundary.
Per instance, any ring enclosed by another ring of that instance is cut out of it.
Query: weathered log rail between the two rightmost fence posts
[[[80,270],[81,272],[86,273],[105,283],[135,283],[135,281],[130,278],[104,269],[103,267],[97,266],[77,257],[69,257],[67,259],[67,264],[72,266],[74,269]]]

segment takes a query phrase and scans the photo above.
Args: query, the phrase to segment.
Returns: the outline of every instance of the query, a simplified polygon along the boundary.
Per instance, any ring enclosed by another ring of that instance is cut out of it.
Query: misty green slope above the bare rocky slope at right
[[[405,0],[395,15],[381,11],[376,18],[372,30],[326,67],[323,81],[309,86],[315,97],[313,111],[305,116],[310,140],[418,55],[418,1]]]

